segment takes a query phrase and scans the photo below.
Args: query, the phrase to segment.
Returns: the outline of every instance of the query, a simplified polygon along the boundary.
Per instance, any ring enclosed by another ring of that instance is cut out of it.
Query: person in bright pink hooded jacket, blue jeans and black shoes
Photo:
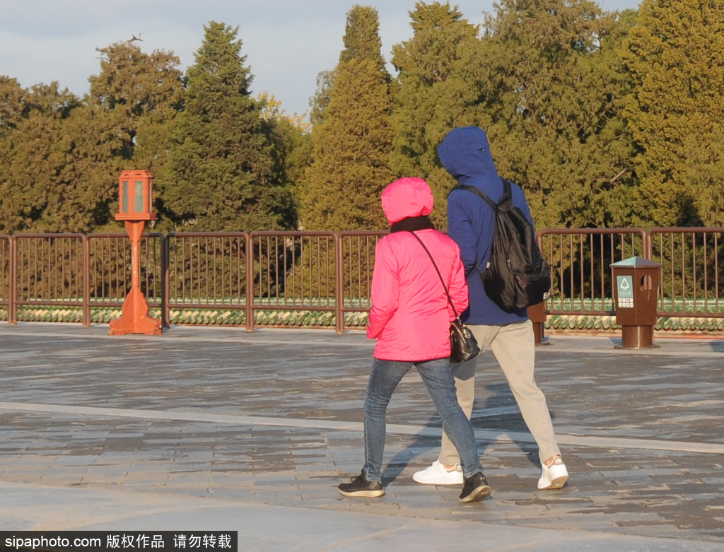
[[[351,483],[337,487],[344,496],[384,495],[387,404],[397,383],[413,366],[460,451],[465,476],[460,502],[480,501],[490,493],[473,428],[455,396],[450,365],[450,321],[455,315],[432,260],[418,242],[419,238],[432,254],[450,299],[461,313],[468,307],[468,286],[460,250],[434,229],[428,217],[432,205],[432,192],[422,179],[403,178],[382,192],[382,209],[392,227],[375,251],[367,336],[377,343],[364,401],[365,464]]]

